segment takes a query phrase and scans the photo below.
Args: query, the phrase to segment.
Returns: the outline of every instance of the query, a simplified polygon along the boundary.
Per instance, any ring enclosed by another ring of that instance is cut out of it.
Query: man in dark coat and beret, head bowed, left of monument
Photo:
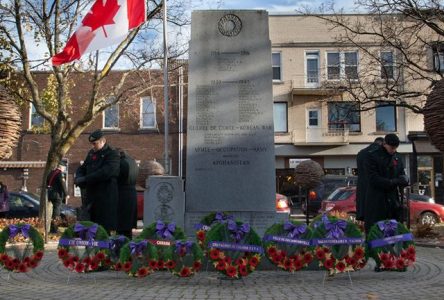
[[[117,229],[119,152],[106,143],[101,130],[91,133],[88,140],[92,149],[77,169],[74,183],[85,187],[86,199],[91,203],[91,221],[110,233]]]

